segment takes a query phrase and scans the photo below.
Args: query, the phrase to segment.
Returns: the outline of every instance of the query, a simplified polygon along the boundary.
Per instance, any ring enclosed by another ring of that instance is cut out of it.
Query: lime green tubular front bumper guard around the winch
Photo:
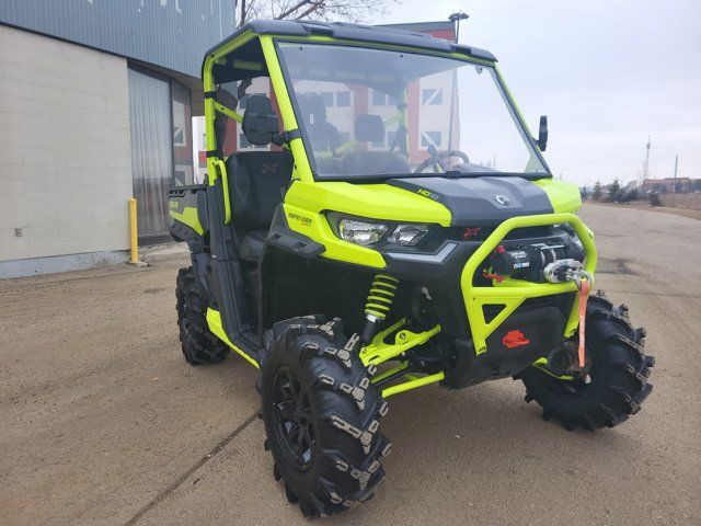
[[[478,267],[496,249],[508,232],[516,228],[540,227],[547,225],[570,224],[579,237],[585,252],[585,270],[591,275],[596,271],[597,250],[594,245],[588,229],[574,214],[544,214],[539,216],[512,217],[502,222],[480,248],[470,256],[460,276],[460,286],[468,311],[468,323],[472,333],[472,341],[476,354],[487,351],[486,339],[489,335],[528,298],[538,298],[562,293],[576,293],[574,283],[530,283],[522,279],[504,279],[502,283],[493,282],[492,287],[474,287],[472,285]],[[499,315],[487,323],[484,320],[485,305],[503,305]],[[573,301],[570,318],[565,327],[565,336],[570,338],[579,324],[577,300]]]

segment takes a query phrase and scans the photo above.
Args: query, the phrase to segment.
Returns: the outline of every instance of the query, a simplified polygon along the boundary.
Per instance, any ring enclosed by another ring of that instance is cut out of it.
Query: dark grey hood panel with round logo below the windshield
[[[406,178],[387,184],[440,203],[455,227],[496,226],[515,216],[554,211],[548,193],[522,178]]]

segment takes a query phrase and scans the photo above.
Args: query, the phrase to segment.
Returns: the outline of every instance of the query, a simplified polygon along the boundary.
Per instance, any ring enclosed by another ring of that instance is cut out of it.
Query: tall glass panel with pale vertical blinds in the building
[[[139,244],[168,239],[168,190],[173,184],[171,89],[166,79],[129,68],[131,176]]]

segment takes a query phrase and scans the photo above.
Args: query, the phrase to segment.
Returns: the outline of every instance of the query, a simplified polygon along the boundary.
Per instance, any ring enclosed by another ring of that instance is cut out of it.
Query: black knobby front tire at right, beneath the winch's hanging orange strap
[[[628,308],[598,293],[586,316],[584,371],[563,379],[531,366],[519,375],[526,401],[536,400],[545,420],[554,416],[567,430],[613,427],[635,414],[653,388],[647,378],[655,361],[643,354],[645,331],[631,327]]]

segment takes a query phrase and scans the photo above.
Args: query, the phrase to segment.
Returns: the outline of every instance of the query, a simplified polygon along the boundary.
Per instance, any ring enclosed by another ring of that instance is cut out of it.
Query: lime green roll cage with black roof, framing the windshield
[[[304,182],[318,181],[314,156],[304,132],[304,123],[299,118],[300,108],[295,96],[290,93],[290,77],[278,53],[278,42],[300,42],[355,47],[381,48],[395,52],[411,52],[443,58],[492,67],[496,73],[496,81],[503,90],[505,100],[512,111],[517,125],[527,137],[532,137],[518,106],[504,82],[496,66],[496,58],[489,52],[453,44],[448,41],[434,38],[422,33],[409,33],[387,27],[363,26],[344,23],[289,22],[289,21],[255,21],[245,24],[229,38],[207,52],[203,62],[202,75],[205,91],[205,135],[207,149],[207,169],[209,184],[216,184],[218,178],[226,178],[223,167],[223,145],[217,144],[215,133],[215,117],[217,114],[241,123],[243,116],[216,100],[216,88],[219,84],[234,82],[256,77],[268,77],[275,94],[277,107],[283,121],[284,148],[288,149],[294,159],[291,180]],[[406,123],[406,108],[398,110],[397,114],[386,121]],[[353,146],[349,140],[341,146],[344,151]],[[538,148],[533,148],[539,161],[547,173],[504,173],[502,176],[517,175],[526,179],[551,178],[550,169]],[[393,174],[394,175],[394,174]],[[393,176],[391,175],[391,176]],[[395,174],[407,176],[406,173]],[[411,175],[411,174],[410,174]],[[479,174],[473,174],[479,175]],[[470,176],[470,175],[464,175]],[[378,179],[374,175],[354,178],[359,182]],[[379,179],[389,179],[382,176]],[[333,178],[324,181],[333,181]],[[335,179],[338,180],[338,179]],[[342,179],[343,180],[343,179]],[[226,181],[225,181],[226,183]],[[227,184],[223,184],[226,187]],[[229,196],[225,196],[227,210],[230,208]],[[230,217],[230,211],[227,218]],[[227,221],[228,222],[228,221]]]

